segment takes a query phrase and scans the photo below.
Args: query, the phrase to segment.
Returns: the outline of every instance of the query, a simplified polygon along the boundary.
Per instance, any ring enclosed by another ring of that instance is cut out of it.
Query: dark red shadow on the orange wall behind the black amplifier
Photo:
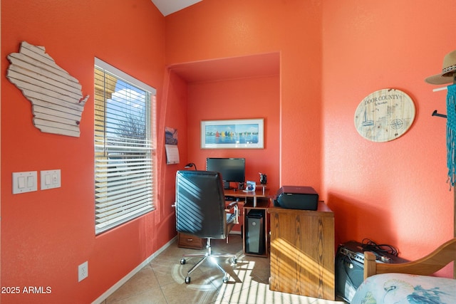
[[[328,193],[328,206],[334,212],[336,248],[347,241],[361,242],[371,239],[376,243],[395,243],[396,236],[388,216],[381,206],[372,206],[363,201]],[[392,239],[394,236],[394,239]]]

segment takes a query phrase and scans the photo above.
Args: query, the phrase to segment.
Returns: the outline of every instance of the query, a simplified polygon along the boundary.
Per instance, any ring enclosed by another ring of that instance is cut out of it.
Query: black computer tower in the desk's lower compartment
[[[245,252],[264,253],[264,210],[252,209],[245,225]]]

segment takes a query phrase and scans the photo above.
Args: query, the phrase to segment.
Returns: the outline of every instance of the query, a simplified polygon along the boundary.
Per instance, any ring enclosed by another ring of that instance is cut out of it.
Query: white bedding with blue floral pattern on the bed
[[[383,273],[363,281],[351,304],[456,303],[456,280]]]

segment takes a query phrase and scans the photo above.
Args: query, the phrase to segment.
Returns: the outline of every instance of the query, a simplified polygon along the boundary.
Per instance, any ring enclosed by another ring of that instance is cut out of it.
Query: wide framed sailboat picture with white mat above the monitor
[[[264,119],[202,120],[202,149],[264,149]]]

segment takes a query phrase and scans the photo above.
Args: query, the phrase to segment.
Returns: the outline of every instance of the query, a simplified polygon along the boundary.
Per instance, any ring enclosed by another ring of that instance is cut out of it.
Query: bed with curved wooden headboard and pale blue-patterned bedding
[[[427,256],[408,263],[377,263],[375,255],[366,251],[364,281],[351,304],[455,304],[456,271],[453,278],[431,276],[455,260],[456,238],[443,243]]]

